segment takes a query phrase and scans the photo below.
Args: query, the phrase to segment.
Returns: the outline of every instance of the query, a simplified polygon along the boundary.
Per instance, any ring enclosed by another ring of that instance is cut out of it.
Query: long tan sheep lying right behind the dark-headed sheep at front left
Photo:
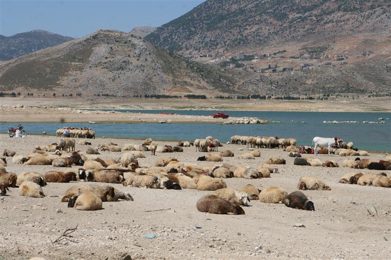
[[[63,196],[61,196],[61,202],[67,202],[70,198],[75,196],[79,196],[85,191],[92,191],[98,196],[102,201],[116,201],[116,200],[131,200],[133,201],[133,197],[129,193],[125,193],[122,191],[118,191],[111,186],[108,185],[95,185],[95,184],[81,184],[75,185],[68,188]]]

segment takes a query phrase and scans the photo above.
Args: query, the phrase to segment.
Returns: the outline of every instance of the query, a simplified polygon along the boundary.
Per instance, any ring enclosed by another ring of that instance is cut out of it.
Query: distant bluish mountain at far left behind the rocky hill
[[[0,60],[11,60],[27,53],[61,44],[73,38],[34,30],[10,37],[0,35]]]

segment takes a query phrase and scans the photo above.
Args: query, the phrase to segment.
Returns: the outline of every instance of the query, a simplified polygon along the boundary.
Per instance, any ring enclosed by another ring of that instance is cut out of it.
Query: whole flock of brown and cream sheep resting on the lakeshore
[[[57,136],[61,137],[61,131]],[[73,137],[92,138],[95,133],[86,129],[70,129]],[[145,167],[139,164],[139,158],[145,158],[144,152],[174,153],[183,152],[183,149],[194,146],[195,151],[206,152],[198,157],[197,161],[223,162],[224,157],[234,157],[230,150],[221,150],[223,146],[219,140],[213,137],[196,139],[194,141],[179,141],[176,146],[157,145],[152,139],[146,139],[141,144],[126,143],[122,146],[109,141],[100,143],[97,147],[89,147],[85,152],[75,151],[76,141],[71,138],[59,139],[52,144],[37,145],[33,152],[20,155],[11,149],[5,149],[0,160],[0,190],[1,196],[5,196],[7,190],[19,187],[19,194],[25,197],[45,197],[42,186],[50,182],[81,182],[68,188],[61,196],[61,202],[67,202],[68,207],[77,210],[102,209],[102,202],[115,200],[132,201],[133,197],[122,192],[109,183],[122,183],[123,186],[144,187],[153,189],[196,189],[201,191],[213,191],[212,194],[202,197],[196,202],[196,208],[200,212],[213,214],[233,213],[245,214],[241,206],[249,204],[250,200],[260,200],[264,203],[284,203],[287,207],[315,210],[315,205],[300,190],[331,190],[323,181],[315,177],[304,176],[298,180],[298,191],[288,194],[279,187],[268,187],[263,190],[252,184],[247,184],[241,189],[227,187],[225,178],[258,179],[270,178],[273,173],[278,173],[279,164],[286,164],[283,158],[269,158],[264,160],[258,168],[245,165],[246,160],[255,160],[261,156],[260,150],[254,148],[283,148],[287,157],[294,157],[293,165],[340,167],[332,160],[321,161],[317,158],[302,157],[309,147],[297,147],[297,140],[293,138],[279,139],[277,137],[231,137],[232,144],[247,145],[249,152],[243,152],[239,159],[242,165],[221,163],[219,165],[197,165],[178,161],[175,158],[158,158],[155,166]],[[91,145],[86,140],[80,140],[79,145]],[[193,148],[194,149],[194,148]],[[323,153],[324,148],[319,148]],[[109,151],[122,153],[117,159],[103,160],[100,152]],[[353,150],[353,143],[348,143],[346,148],[333,149],[333,153],[341,156],[368,156],[368,152]],[[323,153],[325,154],[325,153]],[[327,153],[326,153],[327,154]],[[52,165],[55,168],[67,168],[73,165],[79,166],[78,171],[65,169],[64,171],[51,170],[46,173],[24,172],[19,175],[8,173],[6,170],[7,157],[12,157],[12,163],[24,165]],[[346,159],[343,167],[354,169],[391,170],[391,157],[384,160],[373,161],[369,159]],[[97,185],[88,182],[108,183]],[[363,174],[357,172],[347,173],[338,181],[339,183],[358,184],[376,187],[391,187],[391,177],[386,173]]]

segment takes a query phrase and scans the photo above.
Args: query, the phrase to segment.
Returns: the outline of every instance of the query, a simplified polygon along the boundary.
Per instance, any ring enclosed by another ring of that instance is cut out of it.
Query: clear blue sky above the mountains
[[[97,29],[157,27],[204,0],[0,0],[0,34],[41,29],[80,38]]]

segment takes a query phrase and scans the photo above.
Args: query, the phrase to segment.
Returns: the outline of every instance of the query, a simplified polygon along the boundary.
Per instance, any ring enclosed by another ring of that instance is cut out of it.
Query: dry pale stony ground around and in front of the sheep
[[[26,154],[37,144],[56,140],[56,137],[49,136],[11,139],[1,134],[0,151],[11,148]],[[121,146],[142,142],[105,140]],[[91,147],[96,147],[104,140],[91,141]],[[166,143],[158,142],[159,145]],[[267,158],[281,157],[286,159],[286,164],[276,165],[280,173],[273,173],[271,178],[225,179],[229,188],[240,189],[252,183],[259,189],[277,186],[290,193],[297,190],[300,177],[316,176],[325,180],[331,191],[304,191],[314,202],[315,211],[253,200],[251,206],[243,207],[245,215],[235,216],[198,212],[196,201],[212,192],[189,189],[146,189],[111,184],[129,192],[134,201],[104,202],[104,209],[88,212],[67,208],[67,204],[57,197],[76,185],[75,182],[48,183],[43,187],[46,197],[42,199],[21,197],[17,188],[10,188],[9,196],[0,200],[0,259],[37,256],[53,260],[123,259],[126,254],[132,259],[390,259],[390,188],[337,183],[345,173],[359,170],[294,166],[293,158],[285,157],[282,149],[261,149],[261,158],[242,160],[238,158],[239,148],[247,150],[245,145],[224,144],[220,147],[219,150],[231,149],[235,153],[235,157],[224,158],[223,162],[258,167]],[[86,149],[87,146],[76,145],[76,150]],[[203,153],[195,152],[194,147],[184,148],[183,153],[145,154],[145,159],[139,159],[141,165],[153,165],[160,157],[174,157],[200,165],[212,164],[197,162],[197,157]],[[114,152],[101,154],[103,159],[120,156],[121,153]],[[372,154],[369,158],[379,160],[384,156]],[[318,158],[339,163],[346,159],[339,156]],[[25,171],[45,173],[53,170],[52,166],[13,164],[11,158],[7,158],[7,162],[7,171],[18,175]],[[366,169],[363,172],[376,171]],[[369,204],[375,206],[378,215],[369,215]],[[150,210],[161,211],[146,212]],[[305,227],[295,227],[298,223]],[[78,228],[72,234],[76,242],[51,243],[50,240],[58,238],[66,228],[76,225]],[[156,238],[144,238],[148,234],[154,234]]]

